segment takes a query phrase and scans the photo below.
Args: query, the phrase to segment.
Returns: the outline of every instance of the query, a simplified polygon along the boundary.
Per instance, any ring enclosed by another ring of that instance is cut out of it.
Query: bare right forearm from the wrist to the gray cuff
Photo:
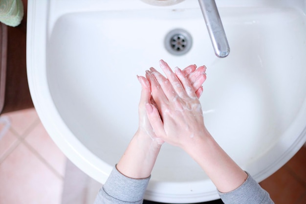
[[[247,178],[247,174],[233,161],[207,132],[205,137],[185,151],[197,161],[220,192],[226,193],[238,188]]]

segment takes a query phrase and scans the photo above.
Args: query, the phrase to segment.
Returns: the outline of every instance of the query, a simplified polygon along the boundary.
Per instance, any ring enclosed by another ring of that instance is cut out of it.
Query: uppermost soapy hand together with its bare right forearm
[[[186,75],[175,73],[164,62],[160,67],[168,79],[151,68],[146,77],[157,108],[146,104],[148,118],[157,137],[181,147],[206,172],[220,192],[238,188],[247,174],[218,145],[204,126],[203,112]]]

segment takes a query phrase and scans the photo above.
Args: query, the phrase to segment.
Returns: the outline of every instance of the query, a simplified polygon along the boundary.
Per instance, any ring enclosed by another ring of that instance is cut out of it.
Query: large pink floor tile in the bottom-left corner
[[[1,204],[60,204],[63,180],[20,144],[0,165]]]

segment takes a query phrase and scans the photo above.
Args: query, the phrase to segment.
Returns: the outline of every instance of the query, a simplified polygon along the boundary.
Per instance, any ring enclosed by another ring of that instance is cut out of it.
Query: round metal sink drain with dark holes
[[[165,38],[165,47],[173,55],[186,54],[192,46],[191,35],[183,29],[170,31]]]

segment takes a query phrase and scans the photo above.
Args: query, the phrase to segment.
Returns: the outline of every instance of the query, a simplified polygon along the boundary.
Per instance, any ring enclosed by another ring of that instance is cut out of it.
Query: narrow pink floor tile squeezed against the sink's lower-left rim
[[[47,134],[42,123],[38,123],[25,137],[25,141],[44,158],[62,177],[65,176],[66,156]]]

